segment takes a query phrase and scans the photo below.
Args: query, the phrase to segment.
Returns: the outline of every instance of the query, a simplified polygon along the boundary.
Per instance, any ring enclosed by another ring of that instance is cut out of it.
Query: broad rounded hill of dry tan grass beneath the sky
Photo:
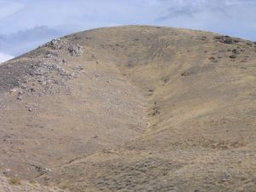
[[[121,26],[0,66],[0,162],[70,191],[255,191],[256,44]]]

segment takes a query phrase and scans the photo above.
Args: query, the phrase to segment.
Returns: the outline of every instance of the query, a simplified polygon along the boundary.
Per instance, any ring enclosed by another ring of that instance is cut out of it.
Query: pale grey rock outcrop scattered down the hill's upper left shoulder
[[[26,73],[18,78],[17,87],[11,92],[18,92],[17,99],[22,100],[22,95],[25,92],[34,92],[35,89],[32,84],[39,84],[41,86],[41,93],[50,90],[55,85],[67,87],[67,80],[75,77],[74,71],[77,73],[77,68],[66,67],[67,60],[62,55],[80,56],[83,54],[83,49],[79,44],[73,44],[61,38],[53,39],[44,47],[48,48],[45,52],[44,58],[24,62],[26,66]],[[32,63],[28,65],[27,63]],[[83,70],[79,68],[79,70]],[[28,84],[30,84],[28,86]],[[23,91],[18,91],[18,90]]]

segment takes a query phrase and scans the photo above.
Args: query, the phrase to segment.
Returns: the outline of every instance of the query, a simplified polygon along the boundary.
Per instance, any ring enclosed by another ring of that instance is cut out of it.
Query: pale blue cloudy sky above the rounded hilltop
[[[256,41],[256,0],[0,0],[0,62],[102,26],[171,26]]]

